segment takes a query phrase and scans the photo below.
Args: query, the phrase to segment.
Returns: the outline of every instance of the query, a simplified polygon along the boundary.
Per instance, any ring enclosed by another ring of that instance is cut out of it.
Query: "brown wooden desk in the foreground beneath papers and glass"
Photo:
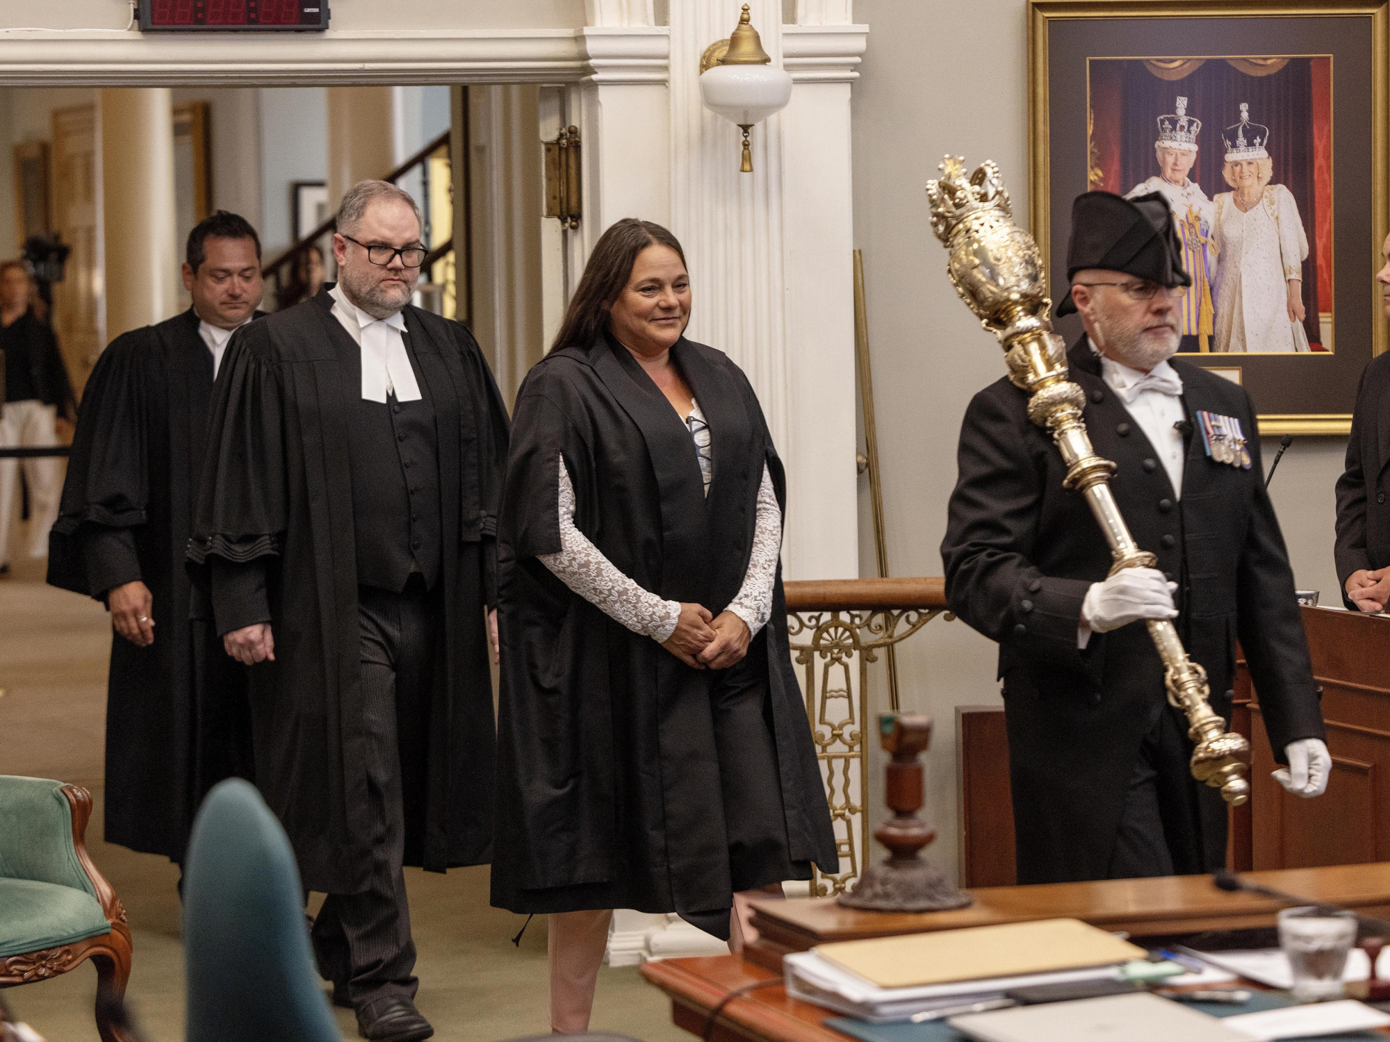
[[[1268,886],[1347,904],[1371,916],[1390,914],[1390,863],[1251,873]],[[645,963],[642,977],[671,998],[671,1020],[696,1036],[710,1010],[730,992],[781,977],[781,954],[821,941],[955,929],[1073,916],[1136,938],[1202,929],[1268,927],[1279,904],[1248,893],[1218,891],[1211,877],[1108,879],[1104,882],[992,886],[972,891],[976,903],[958,911],[892,916],[841,909],[833,900],[755,902],[758,942],[739,956]],[[788,999],[777,984],[734,999],[720,1013],[719,1042],[845,1042],[821,1024],[838,1014]]]

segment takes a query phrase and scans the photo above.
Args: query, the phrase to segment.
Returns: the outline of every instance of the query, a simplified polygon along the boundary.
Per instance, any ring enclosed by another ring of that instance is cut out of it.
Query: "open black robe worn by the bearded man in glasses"
[[[375,824],[366,775],[348,420],[361,371],[327,290],[236,332],[214,395],[189,560],[267,564],[275,661],[250,667],[256,784],[289,834],[304,886],[366,886]],[[421,791],[406,791],[406,864],[491,852],[492,685],[484,606],[495,582],[507,418],[467,328],[403,311],[435,411],[443,521],[438,657]],[[349,371],[350,368],[350,371]]]

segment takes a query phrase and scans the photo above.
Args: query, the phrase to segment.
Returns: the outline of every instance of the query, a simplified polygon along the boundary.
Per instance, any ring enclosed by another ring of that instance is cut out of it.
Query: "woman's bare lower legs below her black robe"
[[[728,914],[730,952],[741,952],[744,945],[758,939],[758,931],[748,921],[753,914],[748,899],[781,896],[780,882],[734,895],[734,907]],[[589,1029],[594,988],[607,948],[613,910],[553,911],[549,920],[550,1031],[556,1035],[582,1035]]]

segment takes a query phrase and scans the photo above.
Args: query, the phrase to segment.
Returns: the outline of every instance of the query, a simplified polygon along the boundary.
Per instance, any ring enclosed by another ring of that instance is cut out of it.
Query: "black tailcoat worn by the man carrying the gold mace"
[[[1283,761],[1289,742],[1322,738],[1323,728],[1250,396],[1195,365],[1170,363],[1193,429],[1197,410],[1237,417],[1254,457],[1248,471],[1218,463],[1188,433],[1179,500],[1084,338],[1069,360],[1087,395],[1095,452],[1119,464],[1115,502],[1138,546],[1179,584],[1177,629],[1207,670],[1212,709],[1230,720],[1238,639]],[[1062,454],[1029,420],[1023,390],[1001,379],[974,396],[958,464],[941,543],[947,600],[999,643],[1019,882],[1104,878],[1140,742],[1159,713],[1172,711],[1162,660],[1143,622],[1093,634],[1077,650],[1081,600],[1108,574],[1111,553],[1086,499],[1062,488]],[[1225,861],[1226,811],[1216,789],[1190,784],[1191,820],[1177,831],[1193,849],[1175,852],[1175,863],[1179,873],[1209,871]]]

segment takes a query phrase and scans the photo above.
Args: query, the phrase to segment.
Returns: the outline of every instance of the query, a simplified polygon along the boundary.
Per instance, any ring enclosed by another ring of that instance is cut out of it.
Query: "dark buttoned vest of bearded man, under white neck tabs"
[[[361,349],[341,325],[338,333],[345,379],[357,389],[348,425],[357,582],[399,593],[418,571],[434,588],[443,552],[438,436],[410,333],[402,339],[423,397],[398,402],[389,395],[385,403],[361,397]]]

